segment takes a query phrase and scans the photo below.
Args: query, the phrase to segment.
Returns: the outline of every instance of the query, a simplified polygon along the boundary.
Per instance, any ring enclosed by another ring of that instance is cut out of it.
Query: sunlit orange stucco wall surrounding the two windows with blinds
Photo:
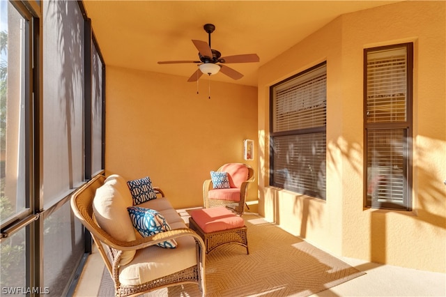
[[[445,1],[342,15],[259,71],[259,213],[337,255],[446,272]],[[413,211],[363,207],[363,50],[414,43]],[[327,200],[268,186],[269,86],[327,61]]]

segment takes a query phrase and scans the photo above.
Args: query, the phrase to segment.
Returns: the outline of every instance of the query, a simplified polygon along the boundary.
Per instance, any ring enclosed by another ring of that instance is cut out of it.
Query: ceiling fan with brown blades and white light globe
[[[195,47],[199,51],[198,56],[200,61],[159,61],[158,64],[175,64],[175,63],[199,63],[199,69],[195,71],[187,82],[196,82],[201,75],[214,75],[218,72],[231,77],[232,79],[240,79],[243,74],[239,73],[237,70],[230,68],[224,64],[226,63],[251,63],[259,62],[259,56],[257,54],[236,54],[234,56],[222,56],[222,54],[213,50],[210,47],[210,33],[215,31],[215,26],[213,24],[205,24],[203,26],[204,31],[208,33],[209,44],[201,40],[192,40]]]

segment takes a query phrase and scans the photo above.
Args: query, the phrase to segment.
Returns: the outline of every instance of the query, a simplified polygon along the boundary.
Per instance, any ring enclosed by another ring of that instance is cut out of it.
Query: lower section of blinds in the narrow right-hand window
[[[406,129],[367,130],[367,195],[373,202],[403,205]]]

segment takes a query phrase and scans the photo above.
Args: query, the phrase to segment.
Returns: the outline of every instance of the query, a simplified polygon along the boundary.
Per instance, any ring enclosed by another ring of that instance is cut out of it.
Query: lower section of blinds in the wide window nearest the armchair
[[[325,132],[274,137],[273,185],[325,199]]]

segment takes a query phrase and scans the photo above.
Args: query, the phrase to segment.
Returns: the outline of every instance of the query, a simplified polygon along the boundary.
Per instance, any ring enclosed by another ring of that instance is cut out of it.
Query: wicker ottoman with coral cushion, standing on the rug
[[[245,221],[224,206],[193,211],[189,228],[203,238],[206,254],[229,243],[243,245],[249,254]]]

